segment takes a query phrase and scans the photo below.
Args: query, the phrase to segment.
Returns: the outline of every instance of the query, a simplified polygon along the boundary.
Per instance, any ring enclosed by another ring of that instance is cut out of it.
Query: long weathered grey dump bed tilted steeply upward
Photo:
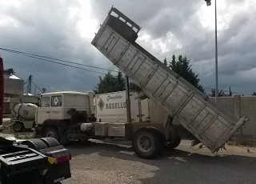
[[[206,94],[139,46],[135,42],[138,30],[138,25],[112,8],[92,44],[174,121],[212,152],[218,151],[246,118],[234,118],[218,104],[209,102]]]

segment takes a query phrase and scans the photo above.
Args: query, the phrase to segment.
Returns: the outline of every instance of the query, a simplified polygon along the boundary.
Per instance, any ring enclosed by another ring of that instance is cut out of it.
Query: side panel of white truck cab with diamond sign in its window
[[[50,118],[62,119],[64,114],[62,113],[62,95],[52,96],[50,99]]]

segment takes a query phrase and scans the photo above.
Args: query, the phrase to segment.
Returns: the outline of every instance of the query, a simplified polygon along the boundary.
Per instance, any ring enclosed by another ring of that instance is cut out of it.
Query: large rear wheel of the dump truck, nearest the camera
[[[140,158],[155,158],[162,152],[162,137],[158,130],[142,128],[134,133],[132,146],[135,154]]]

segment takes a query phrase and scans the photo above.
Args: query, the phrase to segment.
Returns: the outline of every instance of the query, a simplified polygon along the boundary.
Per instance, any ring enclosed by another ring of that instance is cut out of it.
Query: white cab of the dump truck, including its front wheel
[[[41,94],[35,112],[38,136],[53,137],[61,143],[70,139],[86,139],[92,129],[94,117],[93,93],[74,91]],[[87,132],[81,130],[86,126]]]

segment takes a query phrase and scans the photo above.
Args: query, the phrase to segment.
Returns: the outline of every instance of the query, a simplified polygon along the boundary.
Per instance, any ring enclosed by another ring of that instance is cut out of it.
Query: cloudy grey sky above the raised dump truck
[[[142,27],[139,45],[160,61],[186,55],[200,84],[206,90],[215,87],[214,0],[211,6],[204,0],[0,0],[1,48],[86,65],[59,61],[81,70],[0,50],[5,69],[13,68],[24,81],[31,74],[48,92],[93,90],[106,70],[88,66],[117,70],[90,44],[113,5]],[[256,2],[219,0],[217,11],[219,89],[252,94]]]

